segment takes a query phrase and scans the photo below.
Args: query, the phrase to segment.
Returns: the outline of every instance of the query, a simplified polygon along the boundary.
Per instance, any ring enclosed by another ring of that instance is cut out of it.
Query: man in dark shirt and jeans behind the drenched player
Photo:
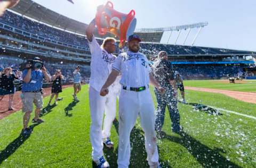
[[[153,65],[153,73],[155,79],[161,87],[166,89],[165,94],[160,94],[155,89],[157,108],[155,129],[161,138],[162,127],[164,124],[165,107],[167,106],[172,120],[172,131],[180,132],[180,114],[177,108],[177,86],[175,84],[174,72],[171,63],[167,61],[167,53],[161,51],[158,54],[158,60]]]

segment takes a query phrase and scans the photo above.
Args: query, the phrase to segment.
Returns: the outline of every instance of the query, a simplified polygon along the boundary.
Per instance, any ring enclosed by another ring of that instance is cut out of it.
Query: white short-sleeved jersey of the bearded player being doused
[[[128,51],[117,56],[112,68],[121,73],[121,85],[142,87],[149,84],[151,69],[147,57],[142,53]]]

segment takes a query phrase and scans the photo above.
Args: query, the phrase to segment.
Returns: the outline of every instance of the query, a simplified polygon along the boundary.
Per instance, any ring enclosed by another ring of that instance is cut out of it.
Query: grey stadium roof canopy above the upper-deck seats
[[[52,27],[71,31],[74,33],[78,33],[80,35],[85,34],[85,29],[88,26],[88,24],[76,21],[74,19],[70,19],[67,16],[61,15],[57,12],[47,9],[46,7],[31,0],[20,0],[19,4],[12,8],[12,11],[17,12],[22,16],[27,16],[31,19],[37,20],[41,23],[49,24]],[[172,31],[172,30],[179,31],[181,29],[186,30],[189,28],[190,29],[195,27],[198,28],[201,25],[206,26],[207,22],[188,24],[183,26],[167,27],[167,28],[153,28],[153,29],[142,28],[142,29],[135,30],[135,33],[137,33],[141,37],[142,41],[160,43],[164,31]],[[101,37],[99,35],[95,35],[95,36],[100,38],[106,37],[106,36]],[[107,35],[107,36],[111,36],[111,35]]]

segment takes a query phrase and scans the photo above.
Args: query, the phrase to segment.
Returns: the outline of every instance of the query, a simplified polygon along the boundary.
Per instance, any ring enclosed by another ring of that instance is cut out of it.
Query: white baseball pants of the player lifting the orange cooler
[[[102,143],[102,120],[104,110],[106,109],[105,116],[105,129],[104,135],[110,136],[110,129],[115,119],[116,114],[116,97],[113,94],[107,96],[100,96],[99,91],[93,87],[89,89],[90,111],[91,111],[91,128],[90,140],[92,143],[92,159],[97,161],[103,156],[103,143]],[[114,103],[113,103],[114,102]],[[113,103],[113,104],[111,104]],[[107,106],[106,106],[107,104]]]

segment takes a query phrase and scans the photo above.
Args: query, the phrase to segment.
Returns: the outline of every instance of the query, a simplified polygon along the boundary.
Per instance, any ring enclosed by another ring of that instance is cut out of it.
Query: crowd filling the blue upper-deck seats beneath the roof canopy
[[[74,33],[69,33],[59,29],[55,29],[45,24],[32,21],[20,15],[14,14],[10,11],[6,11],[5,14],[0,17],[0,21],[9,24],[11,26],[20,28],[22,30],[34,33],[45,38],[49,38],[55,41],[60,41],[62,43],[67,43],[71,45],[81,46],[89,48],[88,41],[85,37],[75,35]],[[98,40],[99,43],[102,43],[102,40]],[[158,44],[158,43],[141,43],[141,52],[146,55],[156,55],[159,51],[166,51],[167,54],[179,55],[179,54],[188,54],[188,55],[207,55],[207,54],[234,54],[235,53],[244,53],[244,51],[233,51],[228,49],[221,48],[208,48],[208,47],[196,47],[196,46],[180,46],[180,45],[167,45],[167,44]],[[118,50],[116,51],[119,52]]]

